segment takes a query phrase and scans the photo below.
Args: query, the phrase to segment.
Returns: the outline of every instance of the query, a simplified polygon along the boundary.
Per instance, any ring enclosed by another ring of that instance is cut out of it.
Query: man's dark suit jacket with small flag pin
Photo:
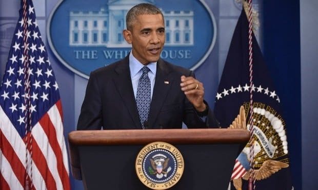
[[[147,128],[182,128],[182,122],[188,128],[217,126],[210,108],[206,122],[197,115],[181,90],[182,75],[193,76],[193,72],[158,60]],[[90,75],[77,130],[101,127],[142,129],[131,83],[129,56]]]

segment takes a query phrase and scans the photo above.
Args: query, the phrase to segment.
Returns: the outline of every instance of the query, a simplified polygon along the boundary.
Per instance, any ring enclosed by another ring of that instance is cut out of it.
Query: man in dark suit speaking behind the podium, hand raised
[[[123,35],[132,51],[91,73],[77,129],[168,129],[182,128],[182,122],[188,128],[217,127],[203,100],[203,84],[192,71],[160,58],[162,12],[151,4],[136,5],[128,11],[126,25]]]

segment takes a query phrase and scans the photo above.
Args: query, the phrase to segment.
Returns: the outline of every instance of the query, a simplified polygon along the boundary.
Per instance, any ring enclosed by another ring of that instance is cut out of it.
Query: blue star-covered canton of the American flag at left
[[[37,26],[33,4],[29,1],[25,20],[26,47],[21,9],[0,88],[0,105],[21,137],[25,135],[26,123],[28,125],[25,120],[28,114],[25,98],[31,101],[29,107],[31,127],[59,100],[58,86]],[[24,55],[25,48],[28,49],[28,68],[24,65],[24,60],[27,59]],[[25,73],[25,70],[28,70],[28,73]],[[29,75],[29,84],[25,84],[26,75]],[[26,93],[25,85],[30,87],[29,93]]]

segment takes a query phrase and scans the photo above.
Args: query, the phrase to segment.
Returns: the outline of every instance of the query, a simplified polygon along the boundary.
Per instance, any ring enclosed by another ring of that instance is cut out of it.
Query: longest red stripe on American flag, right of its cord
[[[42,126],[45,134],[47,135],[49,144],[51,145],[51,148],[56,156],[56,167],[63,187],[64,189],[70,189],[69,176],[64,167],[62,150],[59,147],[58,141],[56,139],[56,131],[54,125],[51,123],[50,117],[47,113],[43,115],[43,117],[39,121],[39,124]]]

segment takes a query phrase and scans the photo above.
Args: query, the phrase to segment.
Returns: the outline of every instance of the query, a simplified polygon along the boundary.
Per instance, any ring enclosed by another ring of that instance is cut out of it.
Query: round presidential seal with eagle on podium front
[[[164,142],[146,145],[137,155],[136,173],[140,181],[151,189],[168,189],[183,174],[184,160],[177,148]]]

